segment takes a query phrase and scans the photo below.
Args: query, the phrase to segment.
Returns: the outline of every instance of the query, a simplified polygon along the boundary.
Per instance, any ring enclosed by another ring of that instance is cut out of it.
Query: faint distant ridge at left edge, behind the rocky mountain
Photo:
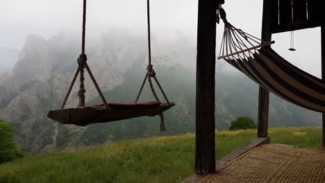
[[[19,55],[19,50],[0,47],[0,74],[11,69]]]

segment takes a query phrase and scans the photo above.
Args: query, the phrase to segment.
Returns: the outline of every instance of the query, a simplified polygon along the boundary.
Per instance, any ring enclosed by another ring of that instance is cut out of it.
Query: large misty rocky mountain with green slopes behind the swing
[[[194,132],[195,45],[179,35],[176,39],[153,39],[153,64],[170,101],[176,106],[165,113],[167,131],[159,132],[158,117],[143,117],[77,127],[47,119],[58,109],[77,67],[80,40],[74,33],[59,33],[49,40],[29,35],[15,66],[0,75],[0,119],[17,129],[16,141],[28,153],[91,146],[120,139]],[[87,40],[88,64],[110,102],[135,98],[147,66],[147,41],[123,31],[111,31]],[[78,83],[78,82],[76,82]],[[88,104],[100,103],[88,75],[85,77]],[[66,107],[75,107],[74,87]],[[162,98],[160,96],[160,98]],[[153,101],[148,86],[141,98]],[[228,128],[237,116],[256,119],[258,86],[219,62],[216,76],[217,130]],[[272,96],[270,125],[319,126],[321,115],[303,110]]]

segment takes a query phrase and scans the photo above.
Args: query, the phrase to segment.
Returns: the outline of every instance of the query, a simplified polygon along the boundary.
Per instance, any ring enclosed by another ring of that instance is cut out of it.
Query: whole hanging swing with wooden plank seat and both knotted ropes
[[[106,98],[103,96],[99,85],[97,84],[96,79],[94,78],[92,71],[90,71],[90,67],[87,64],[87,55],[85,55],[85,21],[86,21],[86,3],[87,0],[83,0],[83,29],[82,29],[82,42],[81,42],[81,55],[78,58],[78,68],[74,73],[74,77],[72,78],[72,82],[69,86],[65,99],[63,101],[63,105],[60,110],[52,110],[49,111],[47,116],[54,121],[63,124],[74,124],[74,125],[90,125],[92,123],[106,123],[111,121],[119,121],[123,119],[133,119],[140,116],[160,116],[160,131],[165,130],[164,117],[163,112],[169,110],[175,104],[169,102],[163,87],[158,82],[156,77],[156,72],[153,70],[153,65],[151,64],[151,37],[150,37],[150,1],[147,0],[147,26],[148,26],[148,66],[147,73],[144,76],[144,80],[140,87],[140,91],[138,96],[135,99],[135,103],[107,103]],[[101,97],[101,101],[103,102],[100,105],[91,105],[85,106],[85,85],[84,85],[84,69],[88,72],[94,86]],[[78,106],[76,108],[65,109],[65,104],[67,103],[67,99],[72,92],[72,88],[74,87],[74,83],[76,82],[76,78],[80,73],[80,86],[78,90]],[[163,94],[166,103],[160,103],[160,100],[156,94],[156,91],[153,87],[153,83],[151,78],[155,80],[158,85],[160,92]],[[142,94],[142,90],[144,88],[144,84],[149,82],[149,87],[151,92],[156,99],[156,101],[150,101],[145,103],[138,103],[140,95]]]

